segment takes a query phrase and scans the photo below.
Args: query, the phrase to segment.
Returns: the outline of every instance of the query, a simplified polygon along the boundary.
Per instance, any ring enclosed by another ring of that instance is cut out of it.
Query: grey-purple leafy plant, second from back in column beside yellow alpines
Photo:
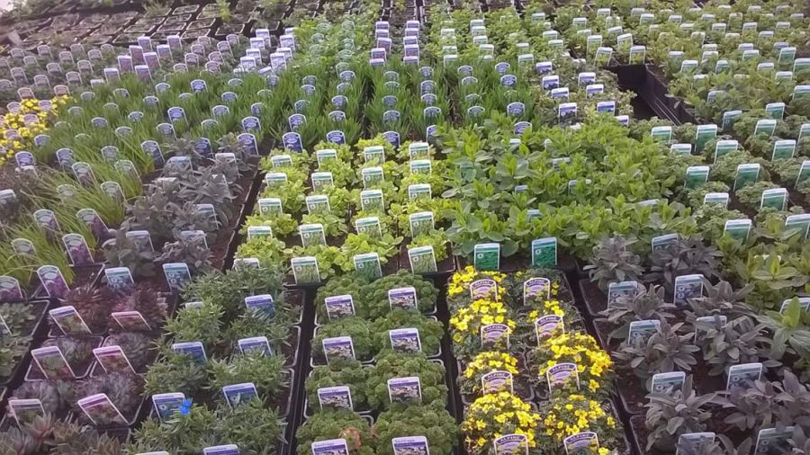
[[[608,309],[599,314],[607,317],[610,324],[617,326],[610,338],[625,339],[634,321],[667,321],[674,317],[671,310],[675,304],[666,301],[664,289],[651,284],[649,288],[639,288],[635,295],[621,296],[608,304]]]

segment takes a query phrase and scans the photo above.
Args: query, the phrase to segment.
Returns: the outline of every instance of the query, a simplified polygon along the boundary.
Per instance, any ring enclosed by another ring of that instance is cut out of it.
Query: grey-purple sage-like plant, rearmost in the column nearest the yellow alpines
[[[635,240],[623,236],[603,238],[593,247],[590,264],[584,267],[590,281],[598,281],[599,288],[606,291],[614,281],[641,281],[644,267],[641,257],[628,248],[633,244]]]

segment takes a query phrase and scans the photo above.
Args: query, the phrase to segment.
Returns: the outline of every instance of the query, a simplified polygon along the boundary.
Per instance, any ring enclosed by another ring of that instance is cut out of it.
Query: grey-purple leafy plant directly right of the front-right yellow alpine
[[[689,375],[680,389],[668,392],[653,392],[647,395],[647,415],[644,426],[647,431],[647,447],[666,450],[675,446],[681,434],[700,433],[706,430],[712,414],[706,406],[712,404],[716,393],[698,395],[692,387]]]

